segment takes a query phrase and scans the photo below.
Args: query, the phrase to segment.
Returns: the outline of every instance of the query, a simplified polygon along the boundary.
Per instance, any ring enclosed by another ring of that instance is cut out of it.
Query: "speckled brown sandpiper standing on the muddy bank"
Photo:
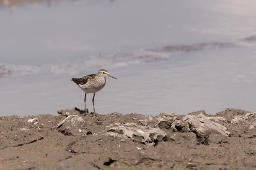
[[[82,78],[72,78],[71,81],[75,82],[79,88],[84,91],[84,106],[85,106],[85,113],[87,113],[86,109],[86,94],[93,93],[93,112],[95,113],[94,108],[94,96],[95,93],[100,91],[102,88],[104,88],[106,84],[106,77],[112,77],[116,79],[116,77],[113,77],[109,74],[109,72],[105,69],[100,69],[97,74],[90,74],[88,76],[84,76]]]

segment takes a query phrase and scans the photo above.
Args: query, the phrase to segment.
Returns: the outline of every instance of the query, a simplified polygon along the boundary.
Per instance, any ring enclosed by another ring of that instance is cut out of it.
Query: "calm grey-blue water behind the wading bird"
[[[0,116],[256,111],[255,0],[3,0]],[[87,106],[93,111],[93,94]]]

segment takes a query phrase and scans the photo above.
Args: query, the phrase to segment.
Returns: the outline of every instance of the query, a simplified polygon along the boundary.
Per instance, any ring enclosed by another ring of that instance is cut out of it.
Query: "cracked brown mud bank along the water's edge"
[[[58,113],[0,117],[0,169],[256,168],[256,113]]]

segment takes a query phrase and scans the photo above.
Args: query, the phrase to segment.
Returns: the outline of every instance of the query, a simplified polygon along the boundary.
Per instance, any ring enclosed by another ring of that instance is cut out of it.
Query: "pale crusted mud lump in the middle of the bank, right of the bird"
[[[106,135],[122,139],[132,139],[143,144],[161,142],[166,137],[166,133],[159,128],[138,126],[135,123],[124,123],[119,126],[110,127]]]

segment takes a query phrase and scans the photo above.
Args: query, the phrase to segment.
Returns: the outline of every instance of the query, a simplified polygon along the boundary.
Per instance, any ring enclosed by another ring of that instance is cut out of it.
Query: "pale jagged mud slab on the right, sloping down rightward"
[[[211,117],[204,116],[203,113],[198,116],[186,115],[183,117],[183,122],[189,123],[189,129],[195,132],[198,136],[204,137],[211,133],[220,133],[224,136],[229,136],[230,132],[227,131],[227,127],[218,124],[217,122],[211,121]],[[217,120],[224,118],[215,117]]]

